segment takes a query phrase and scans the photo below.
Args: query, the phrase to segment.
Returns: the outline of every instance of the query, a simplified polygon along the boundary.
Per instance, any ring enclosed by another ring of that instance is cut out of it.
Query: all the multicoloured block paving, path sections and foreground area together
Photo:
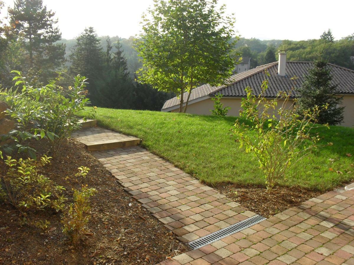
[[[73,136],[84,143],[126,137],[101,128]],[[93,154],[183,242],[255,215],[142,147]],[[338,189],[161,264],[354,264],[353,227],[354,191]]]

